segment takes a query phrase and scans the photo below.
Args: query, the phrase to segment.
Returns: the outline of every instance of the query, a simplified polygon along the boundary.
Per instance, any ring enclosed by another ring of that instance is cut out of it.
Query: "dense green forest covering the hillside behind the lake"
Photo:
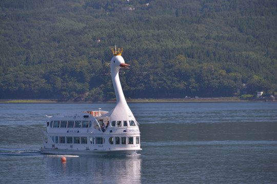
[[[0,98],[126,98],[277,91],[275,0],[2,0]]]

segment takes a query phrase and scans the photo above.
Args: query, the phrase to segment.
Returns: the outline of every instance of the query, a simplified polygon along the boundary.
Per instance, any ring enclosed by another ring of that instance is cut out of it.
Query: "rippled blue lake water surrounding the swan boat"
[[[114,103],[0,104],[0,183],[277,183],[277,103],[129,103],[137,156],[41,154],[45,114]]]

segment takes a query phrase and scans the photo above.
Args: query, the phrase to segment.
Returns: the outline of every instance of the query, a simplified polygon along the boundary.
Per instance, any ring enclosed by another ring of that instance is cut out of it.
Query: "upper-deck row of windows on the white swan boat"
[[[51,121],[50,123],[47,122],[47,127],[50,126],[51,128],[90,128],[91,121]],[[111,126],[136,126],[135,121],[112,121]],[[109,125],[109,122],[107,126]]]

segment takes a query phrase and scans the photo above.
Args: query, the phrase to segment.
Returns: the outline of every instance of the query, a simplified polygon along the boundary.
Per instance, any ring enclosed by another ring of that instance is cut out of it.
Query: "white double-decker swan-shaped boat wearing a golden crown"
[[[111,111],[69,112],[46,116],[42,130],[41,153],[70,155],[132,155],[141,149],[141,132],[130,110],[120,83],[120,68],[129,68],[121,56],[123,49],[112,49],[111,76],[116,105]]]

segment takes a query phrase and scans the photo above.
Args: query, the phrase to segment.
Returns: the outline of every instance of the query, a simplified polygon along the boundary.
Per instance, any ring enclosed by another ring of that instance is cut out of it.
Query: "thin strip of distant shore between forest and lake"
[[[126,99],[127,102],[275,102],[274,98],[241,99],[239,97],[216,98],[167,98],[167,99]],[[107,101],[59,100],[59,99],[0,99],[0,103],[115,103],[116,99]]]

